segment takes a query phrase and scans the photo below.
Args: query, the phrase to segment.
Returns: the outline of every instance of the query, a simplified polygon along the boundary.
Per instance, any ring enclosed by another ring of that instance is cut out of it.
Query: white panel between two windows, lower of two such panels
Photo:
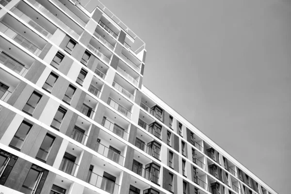
[[[49,98],[48,104],[46,105],[44,111],[42,112],[38,120],[50,126],[52,119],[54,118],[59,106],[60,103],[58,103],[52,98]]]

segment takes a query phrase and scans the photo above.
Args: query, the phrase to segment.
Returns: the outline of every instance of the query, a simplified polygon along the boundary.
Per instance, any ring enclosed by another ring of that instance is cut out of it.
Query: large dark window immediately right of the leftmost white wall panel
[[[32,129],[32,125],[26,121],[22,121],[9,146],[20,149],[30,129]]]

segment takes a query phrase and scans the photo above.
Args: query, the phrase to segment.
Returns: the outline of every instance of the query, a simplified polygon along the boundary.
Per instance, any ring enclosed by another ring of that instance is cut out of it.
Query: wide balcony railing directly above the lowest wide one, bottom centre
[[[110,148],[100,144],[100,143],[96,143],[95,146],[95,151],[98,152],[99,154],[107,157],[108,159],[112,160],[113,162],[116,162],[120,165],[124,165],[124,157],[116,152],[114,152],[113,150],[111,150]]]

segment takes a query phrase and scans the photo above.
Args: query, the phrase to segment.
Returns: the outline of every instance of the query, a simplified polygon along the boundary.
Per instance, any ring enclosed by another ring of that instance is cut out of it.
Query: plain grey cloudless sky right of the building
[[[146,42],[144,85],[291,194],[291,0],[102,0]]]

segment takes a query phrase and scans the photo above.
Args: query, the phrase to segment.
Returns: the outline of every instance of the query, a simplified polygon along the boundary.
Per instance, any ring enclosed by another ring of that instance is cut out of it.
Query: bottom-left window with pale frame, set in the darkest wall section
[[[20,192],[24,194],[33,194],[38,186],[38,183],[42,177],[42,172],[40,167],[32,164],[31,169],[29,170],[24,183],[20,189]]]

